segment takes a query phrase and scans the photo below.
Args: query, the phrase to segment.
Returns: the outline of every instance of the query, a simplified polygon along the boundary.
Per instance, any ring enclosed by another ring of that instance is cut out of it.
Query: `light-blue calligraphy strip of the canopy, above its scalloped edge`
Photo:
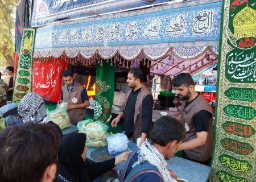
[[[169,43],[176,43],[177,47],[210,46],[209,42],[220,38],[222,2],[214,0],[196,3],[201,3],[200,9],[192,2],[186,2],[172,9],[159,8],[156,12],[141,10],[133,14],[117,14],[112,18],[101,16],[95,20],[85,19],[83,22],[40,27],[36,31],[35,51],[47,54],[50,51],[56,56],[60,49],[67,52],[72,48],[81,52],[89,52],[89,49],[95,52],[102,48],[102,52],[111,51],[108,54],[110,56],[117,46],[133,46],[137,50],[147,45],[151,52],[152,44],[165,43],[165,47],[161,47],[165,51],[170,49]],[[199,43],[191,44],[196,41]],[[154,54],[161,54],[163,50]],[[189,51],[194,52],[192,49]],[[138,51],[129,52],[138,55]]]

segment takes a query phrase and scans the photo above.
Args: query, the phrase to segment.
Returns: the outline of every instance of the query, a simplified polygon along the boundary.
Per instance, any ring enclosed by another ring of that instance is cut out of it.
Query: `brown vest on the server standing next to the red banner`
[[[82,104],[82,90],[84,89],[84,86],[77,83],[75,88],[71,91],[71,94],[68,93],[67,85],[64,85],[62,87],[62,94],[63,94],[63,101],[67,102],[69,105],[75,105],[75,104]],[[77,101],[74,103],[73,101],[77,99]],[[80,108],[80,109],[71,109],[68,110],[68,116],[71,121],[71,123],[77,123],[79,121],[82,121],[85,119],[86,114],[86,108]]]

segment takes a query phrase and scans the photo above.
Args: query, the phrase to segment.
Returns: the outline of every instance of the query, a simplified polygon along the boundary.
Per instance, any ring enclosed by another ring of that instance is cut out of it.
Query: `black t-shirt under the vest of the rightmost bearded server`
[[[199,96],[199,95],[198,95]],[[196,98],[198,97],[196,96]],[[194,98],[191,102],[193,102],[196,98]],[[186,102],[185,107],[187,107],[191,102]],[[209,121],[212,117],[212,114],[209,113],[207,110],[200,110],[194,117],[193,123],[196,129],[196,132],[201,131],[209,131]]]

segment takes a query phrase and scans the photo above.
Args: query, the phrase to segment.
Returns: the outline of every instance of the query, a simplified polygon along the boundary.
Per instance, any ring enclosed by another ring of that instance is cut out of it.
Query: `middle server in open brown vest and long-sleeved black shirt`
[[[152,125],[153,97],[143,85],[143,73],[139,68],[130,69],[127,83],[129,89],[125,94],[125,109],[113,119],[111,125],[116,127],[123,117],[123,131],[128,138],[133,137],[133,142],[141,137],[139,146],[150,135]]]

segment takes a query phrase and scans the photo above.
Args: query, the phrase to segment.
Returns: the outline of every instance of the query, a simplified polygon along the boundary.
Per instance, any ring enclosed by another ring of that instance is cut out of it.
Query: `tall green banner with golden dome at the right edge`
[[[210,181],[256,179],[256,1],[225,0]]]

